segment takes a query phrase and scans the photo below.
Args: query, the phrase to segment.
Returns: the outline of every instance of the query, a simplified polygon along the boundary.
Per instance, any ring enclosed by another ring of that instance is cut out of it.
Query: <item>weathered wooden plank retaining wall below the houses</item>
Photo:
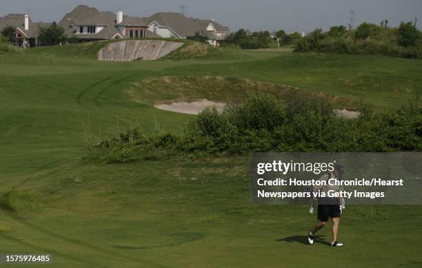
[[[125,40],[110,43],[98,53],[100,61],[150,61],[159,59],[183,45],[162,40]]]

